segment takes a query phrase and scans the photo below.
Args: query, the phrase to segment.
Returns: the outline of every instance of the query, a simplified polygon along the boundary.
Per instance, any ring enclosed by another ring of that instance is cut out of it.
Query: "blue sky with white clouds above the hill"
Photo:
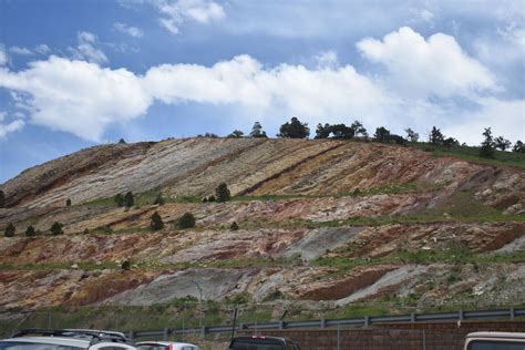
[[[525,0],[0,0],[0,183],[291,116],[525,141]]]

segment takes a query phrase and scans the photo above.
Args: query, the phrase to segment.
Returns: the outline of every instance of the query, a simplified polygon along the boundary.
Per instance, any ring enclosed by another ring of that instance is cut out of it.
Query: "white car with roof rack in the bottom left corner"
[[[123,333],[87,329],[23,329],[0,340],[0,350],[134,350]]]

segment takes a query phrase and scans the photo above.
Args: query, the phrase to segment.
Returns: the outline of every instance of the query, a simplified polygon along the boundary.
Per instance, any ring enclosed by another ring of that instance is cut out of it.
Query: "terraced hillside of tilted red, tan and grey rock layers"
[[[202,203],[220,183],[233,199]],[[258,303],[525,302],[521,167],[377,143],[203,137],[83,150],[1,189],[0,229],[17,228],[0,238],[3,308],[173,302],[198,297],[194,281],[207,300]],[[135,206],[117,207],[128,191]],[[158,194],[166,204],[152,204]],[[196,227],[177,228],[187,212]],[[50,235],[54,222],[64,235]],[[24,237],[29,225],[40,235]]]

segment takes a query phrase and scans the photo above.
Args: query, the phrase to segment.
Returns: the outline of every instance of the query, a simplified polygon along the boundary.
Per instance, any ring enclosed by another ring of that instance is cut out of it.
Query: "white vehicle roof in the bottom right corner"
[[[465,340],[465,350],[525,350],[525,333],[469,333]]]

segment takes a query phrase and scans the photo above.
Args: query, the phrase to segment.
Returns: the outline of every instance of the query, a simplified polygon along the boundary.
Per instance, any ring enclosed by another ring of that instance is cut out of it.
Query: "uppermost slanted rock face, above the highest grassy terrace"
[[[512,168],[374,143],[257,138],[97,146],[28,169],[2,189],[9,206],[42,207],[154,187],[171,196],[200,196],[220,183],[230,184],[233,194],[255,195],[337,195],[420,183],[472,188],[500,207],[516,204],[525,193],[523,173]]]

